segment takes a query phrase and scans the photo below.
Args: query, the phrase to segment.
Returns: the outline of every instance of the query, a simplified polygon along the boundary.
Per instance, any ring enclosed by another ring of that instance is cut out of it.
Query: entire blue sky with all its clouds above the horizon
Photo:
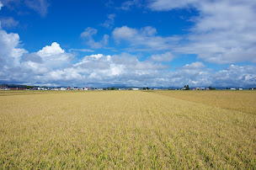
[[[256,87],[254,0],[0,0],[0,83]]]

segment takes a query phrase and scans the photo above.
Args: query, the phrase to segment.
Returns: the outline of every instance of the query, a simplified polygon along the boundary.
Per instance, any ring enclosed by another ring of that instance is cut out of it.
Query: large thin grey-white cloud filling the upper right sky
[[[172,48],[181,54],[195,54],[207,62],[224,64],[256,62],[256,1],[246,0],[153,0],[152,10],[194,8],[199,16],[183,42]]]

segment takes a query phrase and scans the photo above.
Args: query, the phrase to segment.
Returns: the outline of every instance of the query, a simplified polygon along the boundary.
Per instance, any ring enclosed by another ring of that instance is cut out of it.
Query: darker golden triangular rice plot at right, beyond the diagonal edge
[[[256,91],[197,90],[197,91],[148,91],[171,98],[179,98],[195,103],[207,104],[223,109],[233,109],[256,114]]]

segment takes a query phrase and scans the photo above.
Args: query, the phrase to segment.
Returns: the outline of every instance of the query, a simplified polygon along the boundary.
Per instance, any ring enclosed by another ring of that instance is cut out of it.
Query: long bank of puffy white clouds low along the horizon
[[[0,81],[51,86],[237,86],[251,87],[256,83],[256,66],[231,65],[214,72],[196,61],[170,71],[161,61],[171,61],[170,52],[139,61],[128,53],[93,54],[77,63],[75,57],[56,42],[35,53],[20,48],[19,35],[0,30]]]

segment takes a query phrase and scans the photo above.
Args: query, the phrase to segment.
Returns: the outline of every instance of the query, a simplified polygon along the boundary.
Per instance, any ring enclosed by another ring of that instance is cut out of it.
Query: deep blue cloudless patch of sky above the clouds
[[[20,7],[14,10],[3,8],[0,15],[1,17],[12,16],[13,19],[19,21],[18,27],[7,30],[17,32],[24,48],[29,52],[38,51],[45,45],[51,45],[52,42],[59,43],[65,50],[88,49],[88,45],[85,45],[80,35],[84,29],[92,27],[98,29],[98,34],[93,36],[95,41],[101,40],[103,35],[109,35],[109,47],[118,50],[94,49],[94,53],[113,55],[126,47],[125,43],[116,45],[111,38],[111,32],[116,27],[127,25],[131,28],[141,29],[145,26],[152,26],[157,29],[159,36],[184,35],[193,25],[189,19],[198,14],[191,9],[152,12],[145,7],[133,7],[131,10],[125,11],[119,9],[124,1],[114,1],[110,7],[106,7],[106,2],[103,0],[51,1],[48,13],[43,18],[35,11],[20,4]],[[112,28],[106,29],[100,24],[104,23],[107,15],[111,13],[116,15],[115,24]]]

